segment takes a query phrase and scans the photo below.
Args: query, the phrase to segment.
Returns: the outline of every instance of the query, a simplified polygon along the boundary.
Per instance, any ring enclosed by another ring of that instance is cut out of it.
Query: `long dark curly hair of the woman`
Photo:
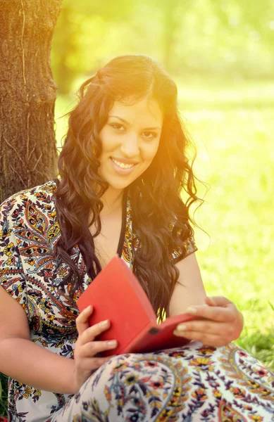
[[[132,103],[147,96],[158,101],[163,127],[154,160],[128,186],[132,225],[139,240],[133,271],[162,321],[179,276],[170,254],[179,247],[184,256],[182,243],[194,234],[189,221],[197,226],[189,207],[195,201],[201,205],[204,200],[197,197],[197,177],[192,171],[197,151],[178,113],[178,89],[161,65],[148,56],[113,58],[80,87],[77,106],[68,113],[68,133],[58,158],[61,180],[56,190],[56,212],[61,238],[56,254],[70,267],[62,286],[70,285],[73,299],[82,284],[70,257],[73,246],[79,246],[91,279],[101,270],[94,253],[94,237],[101,231],[100,198],[108,184],[98,174],[99,133],[114,101]],[[192,161],[189,146],[195,151]],[[184,201],[182,193],[187,194]],[[92,225],[96,227],[94,236],[89,231]]]

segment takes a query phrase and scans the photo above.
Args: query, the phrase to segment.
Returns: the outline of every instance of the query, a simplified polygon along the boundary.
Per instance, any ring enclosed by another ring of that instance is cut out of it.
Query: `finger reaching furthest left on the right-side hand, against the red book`
[[[228,324],[226,323],[220,323],[220,322],[214,322],[211,320],[197,320],[192,321],[190,324],[189,322],[184,324],[179,324],[176,327],[176,331],[178,333],[182,333],[183,336],[185,336],[185,333],[206,333],[206,334],[213,334],[213,335],[223,335],[223,333],[227,333],[229,331]]]

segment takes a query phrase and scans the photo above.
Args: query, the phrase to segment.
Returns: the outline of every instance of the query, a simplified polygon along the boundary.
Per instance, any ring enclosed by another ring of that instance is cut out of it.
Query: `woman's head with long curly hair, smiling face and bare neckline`
[[[120,56],[82,84],[79,94],[59,155],[56,191],[63,228],[56,252],[74,271],[70,296],[79,279],[68,250],[79,245],[93,279],[118,252],[127,196],[139,243],[127,252],[128,260],[163,319],[179,276],[170,253],[176,249],[187,256],[185,241],[193,236],[189,206],[199,200],[185,153],[190,140],[177,109],[178,89],[151,58]],[[180,198],[182,188],[188,203]]]

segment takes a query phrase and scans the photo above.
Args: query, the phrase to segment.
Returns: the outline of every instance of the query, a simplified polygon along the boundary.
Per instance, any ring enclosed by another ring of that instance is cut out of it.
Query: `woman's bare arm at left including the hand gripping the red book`
[[[95,340],[108,330],[110,321],[89,327],[92,312],[88,307],[77,316],[75,359],[69,359],[32,343],[25,311],[0,286],[0,372],[39,390],[75,394],[94,369],[112,357],[96,354],[116,347],[116,339],[114,344]]]

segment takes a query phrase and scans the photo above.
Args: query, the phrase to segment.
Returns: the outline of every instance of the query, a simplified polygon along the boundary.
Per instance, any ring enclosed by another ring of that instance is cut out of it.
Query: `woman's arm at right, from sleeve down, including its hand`
[[[180,324],[175,335],[213,347],[236,340],[244,326],[242,313],[227,298],[206,297],[195,254],[188,255],[177,266],[180,278],[170,299],[168,316],[187,312],[195,320]]]

